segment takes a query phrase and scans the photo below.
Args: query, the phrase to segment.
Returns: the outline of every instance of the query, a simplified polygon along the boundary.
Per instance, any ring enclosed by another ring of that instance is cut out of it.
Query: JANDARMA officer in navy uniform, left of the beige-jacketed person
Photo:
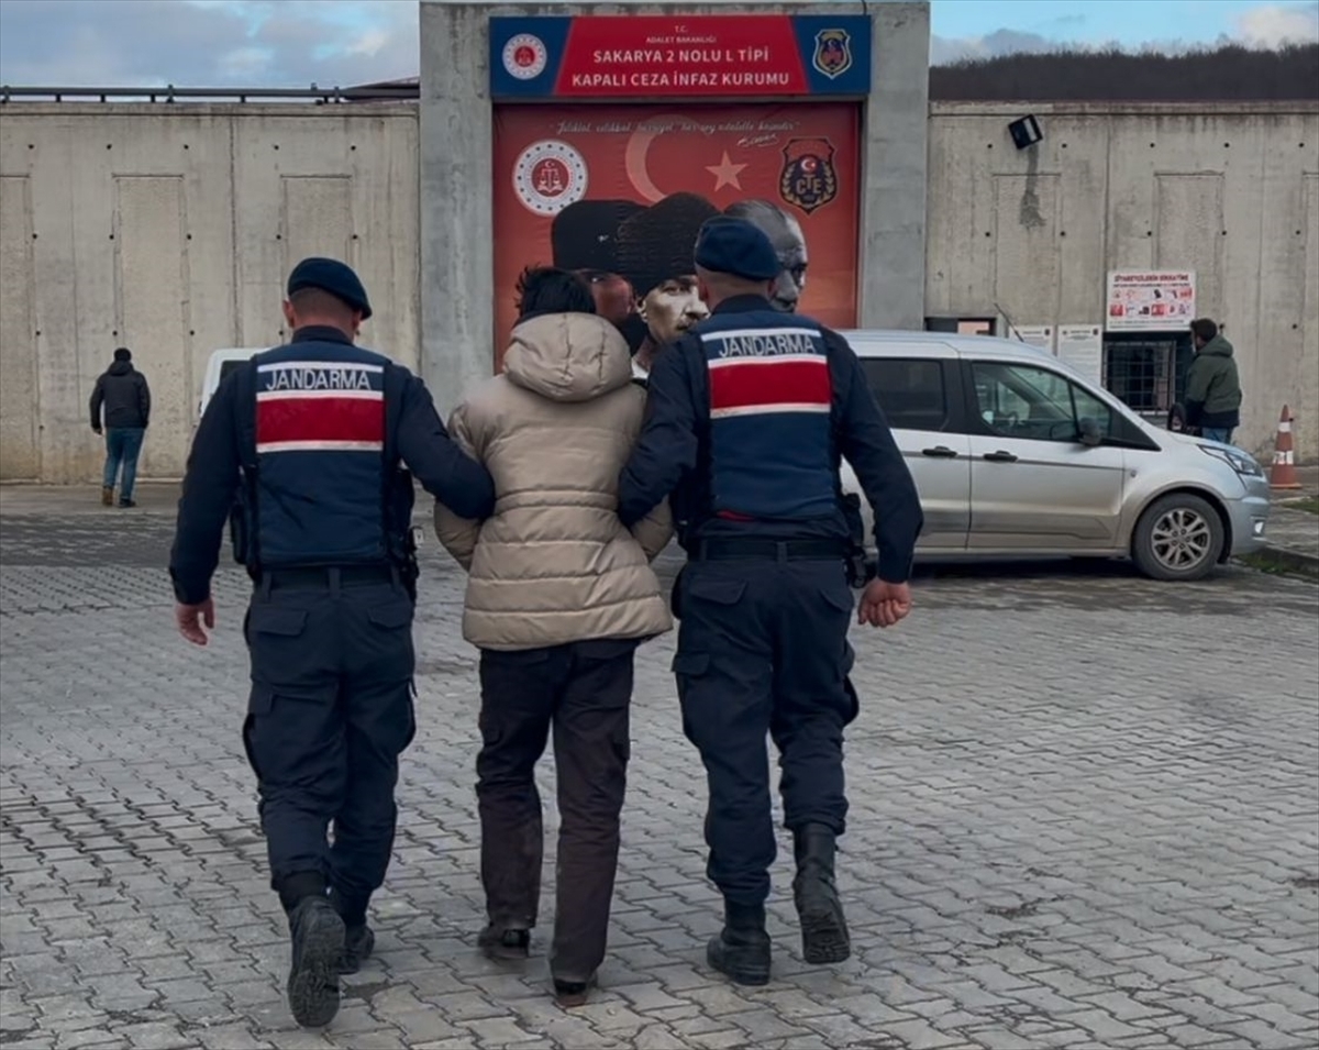
[[[318,1026],[339,1009],[340,970],[375,943],[367,905],[389,864],[398,756],[415,731],[412,476],[467,518],[489,516],[495,485],[448,439],[421,380],[355,346],[371,305],[348,266],[299,262],[284,315],[291,342],[228,376],[202,417],[170,575],[179,631],[206,645],[237,501],[235,553],[256,584],[243,740],[289,914],[289,1006]]]

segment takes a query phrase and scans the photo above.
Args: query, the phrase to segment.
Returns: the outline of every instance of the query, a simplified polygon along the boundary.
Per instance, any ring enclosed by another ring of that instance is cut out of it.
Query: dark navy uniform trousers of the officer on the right
[[[708,875],[724,897],[769,896],[776,840],[765,735],[780,752],[783,823],[847,819],[843,729],[852,591],[842,561],[691,562],[678,579],[674,671],[683,731],[710,782]]]

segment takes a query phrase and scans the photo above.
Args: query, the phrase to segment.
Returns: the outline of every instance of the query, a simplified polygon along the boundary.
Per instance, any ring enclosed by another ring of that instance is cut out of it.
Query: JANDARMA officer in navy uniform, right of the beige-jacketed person
[[[835,963],[851,952],[834,882],[847,815],[843,729],[857,714],[845,677],[851,543],[839,456],[876,508],[878,578],[861,596],[861,623],[889,627],[910,611],[922,514],[851,347],[770,305],[781,265],[765,233],[710,219],[695,264],[714,313],[656,360],[619,514],[630,525],[671,493],[689,558],[674,587],[674,671],[710,782],[708,873],[724,896],[708,959],[737,983],[764,984],[776,852],[766,732],[782,756],[803,954]]]

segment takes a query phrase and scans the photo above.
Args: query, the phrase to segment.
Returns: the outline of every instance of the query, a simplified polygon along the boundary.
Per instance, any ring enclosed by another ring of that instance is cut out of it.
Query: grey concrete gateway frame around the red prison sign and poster
[[[861,323],[919,327],[925,298],[927,3],[421,5],[422,372],[442,410],[489,375],[495,355],[487,18],[492,15],[873,16],[865,106]]]

